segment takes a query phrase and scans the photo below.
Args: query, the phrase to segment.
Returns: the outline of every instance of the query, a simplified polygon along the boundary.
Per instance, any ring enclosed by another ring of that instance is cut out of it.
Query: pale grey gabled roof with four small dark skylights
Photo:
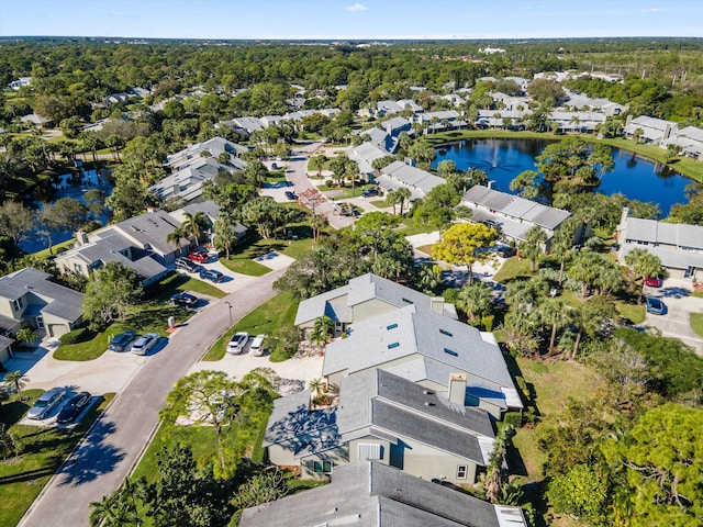
[[[500,348],[467,324],[409,305],[355,323],[349,337],[328,344],[323,375],[428,358],[451,371],[514,389]],[[448,378],[442,381],[446,384]]]

